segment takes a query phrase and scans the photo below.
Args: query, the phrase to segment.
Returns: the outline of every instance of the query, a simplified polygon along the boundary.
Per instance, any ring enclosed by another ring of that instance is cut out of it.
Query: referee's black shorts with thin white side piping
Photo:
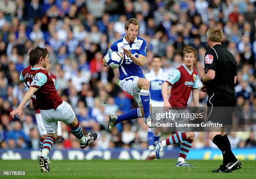
[[[213,93],[207,101],[207,122],[232,125],[236,95],[223,92]]]

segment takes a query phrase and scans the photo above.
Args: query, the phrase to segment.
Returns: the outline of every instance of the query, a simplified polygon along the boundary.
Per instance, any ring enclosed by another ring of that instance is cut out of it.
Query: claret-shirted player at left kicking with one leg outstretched
[[[71,128],[71,132],[79,141],[80,148],[85,148],[93,143],[97,134],[88,133],[84,136],[72,107],[61,99],[54,87],[54,82],[47,72],[46,66],[49,63],[47,49],[36,47],[29,52],[29,66],[23,69],[20,81],[25,82],[28,92],[21,100],[18,107],[10,113],[14,118],[15,114],[20,115],[28,100],[32,100],[35,110],[40,109],[42,121],[47,132],[44,140],[41,156],[38,159],[41,172],[50,172],[48,155],[57,138],[58,121],[62,121]]]

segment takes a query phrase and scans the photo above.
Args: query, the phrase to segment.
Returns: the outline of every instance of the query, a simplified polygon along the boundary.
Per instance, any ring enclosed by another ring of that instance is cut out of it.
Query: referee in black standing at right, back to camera
[[[210,46],[205,53],[205,75],[201,77],[202,92],[207,92],[208,123],[221,123],[223,127],[209,127],[210,139],[222,151],[223,164],[212,172],[230,173],[241,169],[242,162],[231,151],[226,125],[232,125],[232,113],[236,106],[236,58],[221,45],[223,31],[211,27],[207,31]]]

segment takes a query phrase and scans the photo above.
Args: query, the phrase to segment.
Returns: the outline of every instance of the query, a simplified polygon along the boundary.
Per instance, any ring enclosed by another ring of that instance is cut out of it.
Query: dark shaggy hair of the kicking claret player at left
[[[47,49],[41,48],[37,46],[36,48],[32,49],[29,52],[29,64],[34,66],[39,62],[39,59],[42,57],[43,59],[46,57],[48,54]]]

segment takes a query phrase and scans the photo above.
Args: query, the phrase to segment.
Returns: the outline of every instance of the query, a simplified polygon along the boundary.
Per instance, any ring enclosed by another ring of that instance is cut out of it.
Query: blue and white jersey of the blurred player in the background
[[[164,72],[162,68],[159,69],[158,74],[154,72],[153,69],[145,74],[145,78],[150,82],[150,96],[151,100],[164,101],[162,97],[162,84],[167,79],[168,73]]]

